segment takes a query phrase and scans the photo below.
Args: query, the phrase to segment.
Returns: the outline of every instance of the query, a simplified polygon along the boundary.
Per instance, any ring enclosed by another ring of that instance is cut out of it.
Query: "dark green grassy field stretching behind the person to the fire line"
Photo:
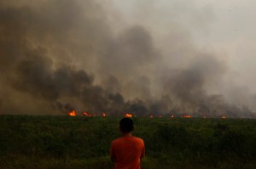
[[[113,168],[121,117],[0,115],[0,168]],[[256,120],[133,118],[142,168],[256,168]]]

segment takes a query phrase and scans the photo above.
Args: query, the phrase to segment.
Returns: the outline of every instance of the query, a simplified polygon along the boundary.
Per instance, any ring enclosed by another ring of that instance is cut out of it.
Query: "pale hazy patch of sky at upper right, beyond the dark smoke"
[[[198,48],[224,54],[230,81],[256,92],[256,2],[253,0],[113,1],[127,24],[141,23],[165,36],[177,22]]]

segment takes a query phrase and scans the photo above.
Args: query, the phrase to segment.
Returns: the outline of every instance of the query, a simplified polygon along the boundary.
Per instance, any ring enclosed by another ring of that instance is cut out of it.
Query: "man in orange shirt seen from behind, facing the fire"
[[[115,169],[140,169],[140,163],[145,156],[145,147],[142,138],[131,135],[134,130],[131,118],[119,121],[122,137],[112,141],[110,158],[115,163]]]

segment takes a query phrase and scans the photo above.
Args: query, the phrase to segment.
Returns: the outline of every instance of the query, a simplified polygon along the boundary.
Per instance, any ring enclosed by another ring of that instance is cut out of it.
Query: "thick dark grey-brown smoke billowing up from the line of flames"
[[[159,47],[148,25],[118,16],[93,0],[1,2],[0,114],[253,116],[214,93],[227,65],[178,25]]]

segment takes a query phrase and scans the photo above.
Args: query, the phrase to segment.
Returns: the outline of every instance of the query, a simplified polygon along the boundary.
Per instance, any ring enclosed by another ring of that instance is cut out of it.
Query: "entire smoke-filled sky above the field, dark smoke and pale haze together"
[[[255,8],[253,0],[2,1],[0,113],[256,112]]]

